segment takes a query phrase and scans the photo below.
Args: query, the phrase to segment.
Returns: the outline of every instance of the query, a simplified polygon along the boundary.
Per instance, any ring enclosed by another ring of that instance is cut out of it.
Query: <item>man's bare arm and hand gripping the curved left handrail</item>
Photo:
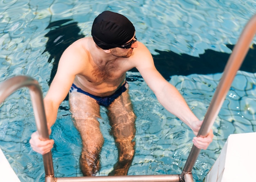
[[[59,105],[67,96],[75,76],[81,72],[81,69],[83,69],[79,64],[81,57],[76,57],[74,55],[79,55],[79,53],[76,53],[75,48],[71,47],[65,50],[59,61],[56,75],[44,98],[45,115],[49,134],[51,131],[50,127],[56,121]],[[36,131],[31,135],[29,143],[34,151],[40,154],[45,154],[52,149],[54,141],[40,140],[38,132]]]

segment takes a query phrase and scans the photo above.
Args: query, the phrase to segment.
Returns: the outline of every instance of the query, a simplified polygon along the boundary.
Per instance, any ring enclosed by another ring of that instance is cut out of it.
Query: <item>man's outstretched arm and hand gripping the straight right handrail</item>
[[[137,62],[136,68],[139,70],[150,89],[155,93],[159,103],[161,103],[166,110],[180,118],[197,134],[202,125],[202,121],[199,121],[195,114],[193,114],[180,92],[173,85],[168,83],[156,70],[149,50],[141,43],[139,44],[137,55],[138,58],[141,59]],[[193,143],[200,149],[206,149],[212,142],[212,138],[213,132],[211,130],[205,138],[193,138]]]

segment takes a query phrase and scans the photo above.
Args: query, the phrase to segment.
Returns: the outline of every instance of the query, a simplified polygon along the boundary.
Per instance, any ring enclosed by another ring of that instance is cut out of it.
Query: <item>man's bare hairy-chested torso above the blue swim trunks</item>
[[[82,47],[79,53],[81,57],[87,57],[86,63],[81,64],[81,71],[76,74],[74,84],[95,96],[109,96],[125,83],[126,71],[130,70],[133,66],[130,64],[130,58],[117,58],[107,63],[99,64],[96,61],[97,55],[90,54],[94,51],[95,47],[92,45],[92,38],[83,38],[76,42],[76,48]],[[94,42],[93,42],[94,43]],[[83,49],[83,50],[82,50]]]

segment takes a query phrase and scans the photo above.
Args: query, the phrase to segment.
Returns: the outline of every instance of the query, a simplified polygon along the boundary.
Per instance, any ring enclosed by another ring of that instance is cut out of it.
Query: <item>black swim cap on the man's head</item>
[[[103,11],[92,24],[92,38],[104,50],[125,44],[134,34],[132,22],[124,15],[111,11]]]

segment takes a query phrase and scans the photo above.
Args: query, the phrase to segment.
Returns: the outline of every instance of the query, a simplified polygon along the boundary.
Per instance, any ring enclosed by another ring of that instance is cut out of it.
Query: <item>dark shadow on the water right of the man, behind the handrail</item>
[[[234,45],[226,45],[233,50]],[[153,55],[157,70],[167,80],[172,75],[207,75],[223,72],[230,54],[215,50],[205,50],[199,57],[187,54],[177,54],[172,51],[156,50],[159,55]],[[256,72],[256,45],[253,44],[240,68],[246,72]]]

